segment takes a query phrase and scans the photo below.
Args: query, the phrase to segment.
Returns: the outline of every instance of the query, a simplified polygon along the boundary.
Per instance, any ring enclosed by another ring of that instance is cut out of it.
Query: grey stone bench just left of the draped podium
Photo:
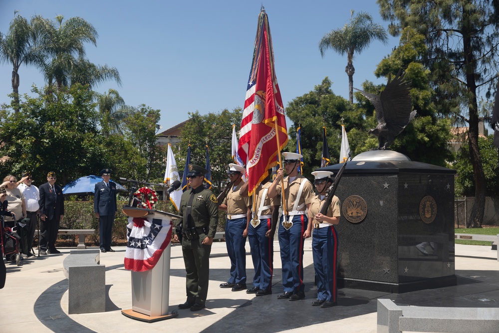
[[[68,279],[68,313],[106,311],[106,267],[100,265],[100,250],[71,250],[62,262]]]

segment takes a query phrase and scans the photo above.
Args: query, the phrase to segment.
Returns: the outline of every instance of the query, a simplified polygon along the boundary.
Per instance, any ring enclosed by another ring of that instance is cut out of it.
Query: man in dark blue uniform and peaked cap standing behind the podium
[[[111,169],[100,171],[102,182],[95,184],[94,213],[99,219],[100,252],[114,252],[111,249],[111,234],[116,205],[116,183],[109,181]]]

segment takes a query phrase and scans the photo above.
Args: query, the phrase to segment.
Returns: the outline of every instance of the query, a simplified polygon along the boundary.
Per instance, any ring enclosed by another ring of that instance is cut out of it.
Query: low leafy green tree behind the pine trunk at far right
[[[494,146],[494,135],[489,135],[487,138],[479,138],[478,144],[487,184],[486,195],[499,196],[498,150]],[[456,195],[473,196],[475,193],[475,177],[473,175],[473,164],[468,145],[461,147],[457,153],[456,163],[452,164],[451,167],[457,171]]]

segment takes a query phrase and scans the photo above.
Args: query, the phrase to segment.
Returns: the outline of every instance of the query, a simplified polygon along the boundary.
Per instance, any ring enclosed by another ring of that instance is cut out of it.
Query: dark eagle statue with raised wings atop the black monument
[[[355,88],[369,99],[376,109],[378,125],[371,128],[369,134],[378,137],[378,149],[387,149],[416,115],[416,111],[412,111],[410,89],[411,81],[404,80],[400,70],[393,80],[391,75],[388,76],[385,90],[380,96]]]

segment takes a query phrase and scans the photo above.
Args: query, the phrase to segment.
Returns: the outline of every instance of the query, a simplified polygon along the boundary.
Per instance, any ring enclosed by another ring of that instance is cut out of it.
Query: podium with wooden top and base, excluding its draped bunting
[[[134,218],[148,218],[171,221],[180,216],[153,209],[123,206],[123,213]],[[172,226],[173,228],[173,226]],[[154,323],[178,317],[177,310],[168,312],[170,294],[171,242],[163,251],[158,263],[145,272],[131,272],[132,309],[121,313],[131,319]]]

